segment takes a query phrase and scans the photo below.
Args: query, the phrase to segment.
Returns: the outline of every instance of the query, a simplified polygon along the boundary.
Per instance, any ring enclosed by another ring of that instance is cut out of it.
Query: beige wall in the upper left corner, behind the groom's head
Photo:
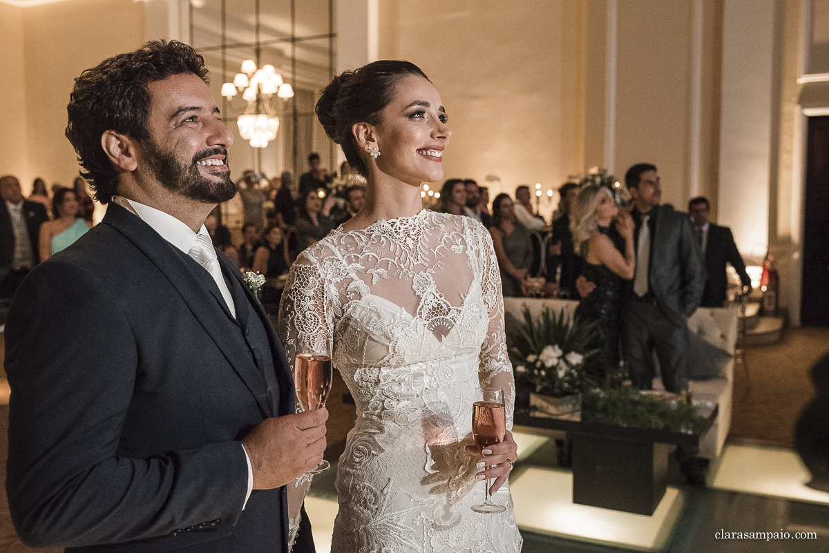
[[[4,71],[0,171],[20,176],[24,191],[30,190],[36,176],[49,185],[70,185],[78,164],[63,132],[74,79],[105,57],[141,45],[143,4],[131,0],[73,0],[32,7],[0,4],[0,21]]]

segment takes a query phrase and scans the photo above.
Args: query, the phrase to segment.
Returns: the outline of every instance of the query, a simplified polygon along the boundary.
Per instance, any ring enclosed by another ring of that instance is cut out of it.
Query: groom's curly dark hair
[[[109,203],[118,191],[118,173],[101,147],[105,131],[138,141],[147,140],[150,83],[172,75],[192,73],[205,84],[205,60],[191,46],[178,41],[150,41],[138,50],[115,55],[85,70],[75,79],[66,111],[66,137],[75,147],[80,172],[95,191],[95,200]]]

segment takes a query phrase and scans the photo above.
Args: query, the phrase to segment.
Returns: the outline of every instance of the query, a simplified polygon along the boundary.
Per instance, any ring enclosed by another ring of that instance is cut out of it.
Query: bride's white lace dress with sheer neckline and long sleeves
[[[332,551],[521,551],[507,484],[501,514],[473,512],[472,407],[514,385],[497,260],[486,229],[423,210],[367,228],[337,228],[293,264],[280,309],[288,359],[332,339],[356,402],[337,467]]]

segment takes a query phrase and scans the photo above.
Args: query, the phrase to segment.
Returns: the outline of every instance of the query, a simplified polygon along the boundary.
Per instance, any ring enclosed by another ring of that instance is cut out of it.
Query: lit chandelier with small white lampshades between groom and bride
[[[242,99],[248,103],[245,113],[236,118],[239,134],[250,142],[251,147],[268,146],[279,130],[279,118],[274,113],[274,94],[287,100],[293,98],[293,88],[283,81],[273,65],[266,64],[257,69],[254,60],[245,60],[233,82],[221,85],[221,95],[228,101],[237,92],[242,93]]]

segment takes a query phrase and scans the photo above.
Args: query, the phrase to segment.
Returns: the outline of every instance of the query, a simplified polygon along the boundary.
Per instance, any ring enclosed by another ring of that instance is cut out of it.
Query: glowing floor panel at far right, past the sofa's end
[[[797,452],[778,447],[726,445],[709,470],[709,488],[829,504],[829,493],[807,488],[811,475]]]

